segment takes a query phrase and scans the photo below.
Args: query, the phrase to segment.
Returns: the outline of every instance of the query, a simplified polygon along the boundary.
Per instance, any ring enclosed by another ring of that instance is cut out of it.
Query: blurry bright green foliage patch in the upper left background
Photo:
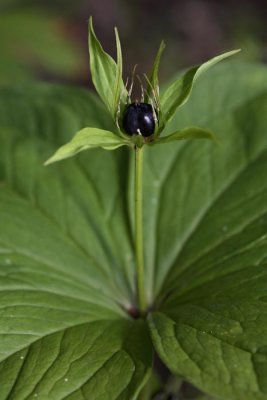
[[[83,63],[81,46],[68,37],[63,21],[36,9],[0,14],[0,54],[0,83],[70,78]]]

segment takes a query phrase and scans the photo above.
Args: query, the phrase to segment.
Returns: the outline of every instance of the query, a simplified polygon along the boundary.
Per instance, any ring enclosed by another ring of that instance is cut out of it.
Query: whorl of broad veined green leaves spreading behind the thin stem
[[[142,147],[154,310],[133,320],[135,151],[43,168],[73,132],[114,123],[83,89],[0,88],[0,399],[150,399],[154,352],[216,398],[266,399],[266,109],[266,68],[223,63],[159,136],[190,121],[223,146]]]

